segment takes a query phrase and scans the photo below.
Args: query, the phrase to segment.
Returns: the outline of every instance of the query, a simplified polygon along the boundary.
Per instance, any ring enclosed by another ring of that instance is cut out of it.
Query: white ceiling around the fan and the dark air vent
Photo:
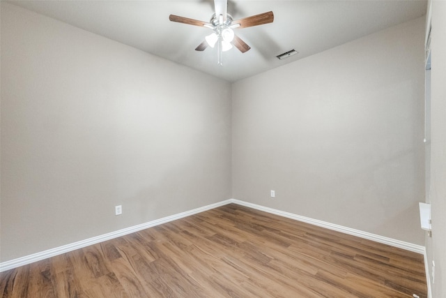
[[[426,1],[419,0],[229,0],[234,20],[270,10],[275,20],[235,29],[251,50],[242,54],[234,47],[218,66],[215,49],[194,50],[210,29],[169,21],[174,14],[209,22],[213,0],[9,2],[230,82],[426,14]],[[299,54],[276,58],[292,49]]]

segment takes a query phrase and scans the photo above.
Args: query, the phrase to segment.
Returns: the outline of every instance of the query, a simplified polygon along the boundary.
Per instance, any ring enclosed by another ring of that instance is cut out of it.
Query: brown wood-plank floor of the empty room
[[[423,256],[236,204],[0,274],[1,297],[419,297]]]

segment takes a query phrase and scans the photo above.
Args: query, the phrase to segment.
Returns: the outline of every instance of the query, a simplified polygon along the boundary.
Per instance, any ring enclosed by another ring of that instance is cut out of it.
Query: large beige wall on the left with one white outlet
[[[1,261],[229,198],[229,83],[2,1]]]

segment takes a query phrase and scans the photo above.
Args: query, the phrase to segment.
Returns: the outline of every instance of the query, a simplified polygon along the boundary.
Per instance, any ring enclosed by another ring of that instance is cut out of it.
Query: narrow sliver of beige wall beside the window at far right
[[[446,297],[446,2],[432,1],[431,209],[433,297]],[[429,267],[431,264],[429,264]]]

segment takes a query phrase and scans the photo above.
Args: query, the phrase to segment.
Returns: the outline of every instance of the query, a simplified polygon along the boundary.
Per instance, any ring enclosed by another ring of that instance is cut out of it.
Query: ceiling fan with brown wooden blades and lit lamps
[[[194,20],[188,17],[180,17],[178,15],[169,15],[169,20],[171,20],[171,22],[190,24],[213,30],[213,33],[206,36],[203,43],[201,43],[195,50],[204,51],[208,46],[215,47],[215,45],[217,45],[217,64],[219,65],[223,65],[223,52],[231,50],[233,45],[242,53],[247,52],[251,48],[241,38],[236,36],[233,29],[253,27],[272,23],[272,21],[274,21],[274,14],[272,11],[261,13],[259,15],[252,15],[251,17],[244,17],[243,19],[234,21],[232,16],[227,13],[227,0],[214,0],[214,5],[215,13],[210,18],[209,22]]]

